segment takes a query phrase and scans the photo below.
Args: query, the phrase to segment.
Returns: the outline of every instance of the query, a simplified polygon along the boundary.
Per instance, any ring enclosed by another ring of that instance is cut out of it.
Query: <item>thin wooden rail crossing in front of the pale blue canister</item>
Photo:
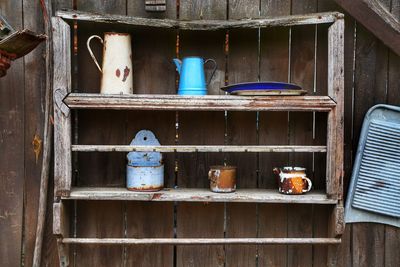
[[[326,146],[130,146],[130,145],[72,145],[79,152],[326,152]]]

